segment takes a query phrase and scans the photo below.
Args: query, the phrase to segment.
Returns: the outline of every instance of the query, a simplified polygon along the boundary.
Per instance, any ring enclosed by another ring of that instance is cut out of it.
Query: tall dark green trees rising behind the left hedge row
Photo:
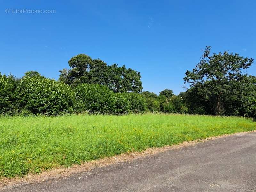
[[[68,64],[70,69],[60,70],[59,80],[76,86],[81,83],[107,85],[113,92],[136,92],[142,90],[140,72],[118,67],[117,64],[108,66],[100,59],[92,60],[85,54],[72,57]]]

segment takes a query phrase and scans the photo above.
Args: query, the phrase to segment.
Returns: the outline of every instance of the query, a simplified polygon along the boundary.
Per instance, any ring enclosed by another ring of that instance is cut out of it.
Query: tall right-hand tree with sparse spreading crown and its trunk
[[[210,46],[207,46],[200,62],[192,71],[187,71],[184,77],[184,84],[189,83],[190,87],[202,85],[205,81],[210,81],[212,90],[211,101],[214,104],[214,114],[220,115],[223,107],[223,95],[225,85],[228,81],[236,80],[243,74],[243,70],[249,68],[252,58],[244,58],[237,53],[213,54],[210,56]],[[246,75],[244,75],[246,76]]]

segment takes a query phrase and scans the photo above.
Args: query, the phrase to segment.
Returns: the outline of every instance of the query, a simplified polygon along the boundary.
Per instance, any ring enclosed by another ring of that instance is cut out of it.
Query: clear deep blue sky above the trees
[[[58,79],[84,53],[140,71],[143,90],[178,94],[206,45],[256,59],[254,0],[0,2],[0,71],[16,77]],[[247,73],[256,75],[256,61]]]

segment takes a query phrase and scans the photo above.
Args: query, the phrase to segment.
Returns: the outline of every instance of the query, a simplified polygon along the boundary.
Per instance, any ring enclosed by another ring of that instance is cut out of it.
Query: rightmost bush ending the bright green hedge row
[[[123,93],[130,103],[130,110],[133,113],[141,113],[146,111],[145,98],[138,93]]]

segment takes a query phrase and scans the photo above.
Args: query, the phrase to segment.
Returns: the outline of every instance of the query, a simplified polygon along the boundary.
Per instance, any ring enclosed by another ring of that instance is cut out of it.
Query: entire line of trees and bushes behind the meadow
[[[60,70],[58,81],[38,72],[21,79],[0,73],[0,113],[45,114],[137,112],[189,113],[256,118],[256,77],[244,70],[253,59],[224,53],[210,56],[206,47],[199,63],[187,71],[186,92],[174,95],[165,89],[156,95],[142,90],[140,73],[108,66],[80,54],[69,60],[70,69]]]

